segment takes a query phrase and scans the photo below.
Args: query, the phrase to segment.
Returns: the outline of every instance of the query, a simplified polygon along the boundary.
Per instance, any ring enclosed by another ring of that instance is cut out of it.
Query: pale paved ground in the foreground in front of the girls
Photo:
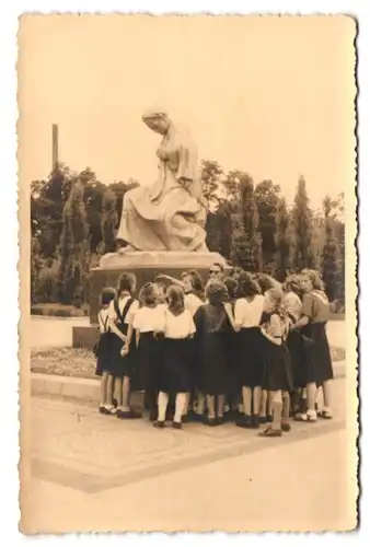
[[[274,440],[233,424],[158,431],[34,397],[23,529],[354,527],[345,395],[335,381],[333,421],[294,423]]]

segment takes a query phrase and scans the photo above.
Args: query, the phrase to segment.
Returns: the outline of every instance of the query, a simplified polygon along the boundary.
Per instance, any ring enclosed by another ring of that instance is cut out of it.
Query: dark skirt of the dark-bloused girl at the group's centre
[[[228,351],[224,333],[209,333],[199,342],[203,391],[207,395],[223,395],[228,387]]]

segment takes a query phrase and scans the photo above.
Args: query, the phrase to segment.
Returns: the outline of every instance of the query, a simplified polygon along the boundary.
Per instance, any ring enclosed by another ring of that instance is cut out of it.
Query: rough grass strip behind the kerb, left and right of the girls
[[[333,361],[343,361],[344,348],[331,348]],[[80,348],[56,348],[31,351],[31,371],[59,376],[96,379],[95,357]]]

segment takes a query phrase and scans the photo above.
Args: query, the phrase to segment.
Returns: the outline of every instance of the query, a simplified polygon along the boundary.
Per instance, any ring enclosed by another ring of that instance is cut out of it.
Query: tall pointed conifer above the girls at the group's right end
[[[294,197],[292,225],[294,231],[293,267],[297,271],[303,268],[312,268],[312,212],[309,207],[305,181],[302,176],[298,182],[298,189]]]

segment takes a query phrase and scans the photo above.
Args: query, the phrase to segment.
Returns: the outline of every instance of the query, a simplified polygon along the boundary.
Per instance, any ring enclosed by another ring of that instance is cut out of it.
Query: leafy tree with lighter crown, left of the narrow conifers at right
[[[279,194],[280,186],[274,185],[271,181],[263,181],[254,190],[265,265],[274,263],[275,259]]]

